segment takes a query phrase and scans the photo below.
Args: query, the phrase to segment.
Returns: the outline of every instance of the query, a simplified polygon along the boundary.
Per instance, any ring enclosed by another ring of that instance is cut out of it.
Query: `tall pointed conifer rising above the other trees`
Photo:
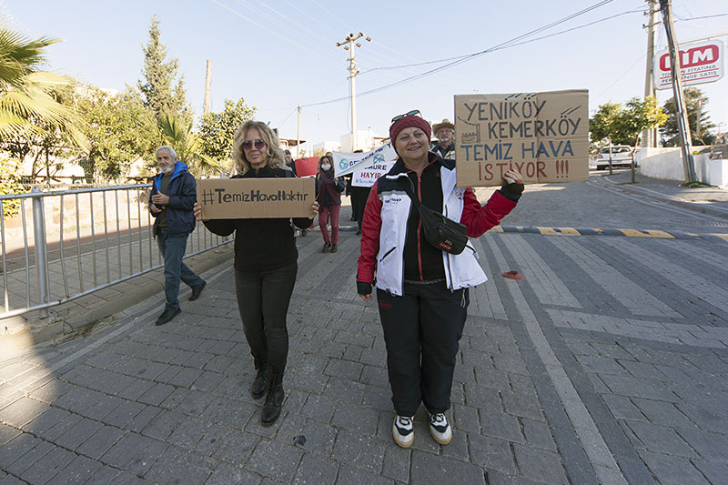
[[[144,106],[152,110],[154,116],[171,113],[189,116],[185,98],[184,76],[177,76],[179,61],[177,57],[167,58],[167,46],[159,40],[159,19],[152,17],[149,27],[149,41],[144,46],[144,78],[137,84],[144,98]],[[176,82],[176,84],[175,84]],[[174,85],[174,86],[173,86]]]

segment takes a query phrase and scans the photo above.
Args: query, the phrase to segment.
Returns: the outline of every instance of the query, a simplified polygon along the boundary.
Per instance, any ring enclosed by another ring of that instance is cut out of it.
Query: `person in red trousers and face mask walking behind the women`
[[[319,202],[319,228],[324,237],[321,252],[337,252],[339,244],[339,211],[341,210],[341,192],[344,191],[343,177],[334,177],[334,161],[330,152],[319,158],[319,173],[316,174],[316,201]],[[327,223],[331,222],[331,237]]]

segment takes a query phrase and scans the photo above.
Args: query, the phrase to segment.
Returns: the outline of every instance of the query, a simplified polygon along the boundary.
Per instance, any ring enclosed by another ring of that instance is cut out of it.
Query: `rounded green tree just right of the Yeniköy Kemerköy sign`
[[[635,146],[643,130],[661,126],[667,115],[657,107],[654,96],[642,101],[632,97],[625,106],[605,103],[589,120],[589,131],[594,143],[602,144],[610,138],[613,145]]]

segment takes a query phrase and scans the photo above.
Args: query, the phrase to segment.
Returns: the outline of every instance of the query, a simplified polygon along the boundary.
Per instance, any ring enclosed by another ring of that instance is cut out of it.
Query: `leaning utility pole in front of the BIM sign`
[[[670,70],[672,71],[672,94],[675,96],[675,115],[677,116],[678,135],[682,151],[682,167],[685,171],[685,182],[697,182],[695,166],[693,164],[693,149],[691,147],[690,125],[688,124],[688,110],[682,94],[682,78],[680,69],[680,49],[675,39],[672,22],[671,0],[660,0],[662,23],[665,25],[667,45],[670,48]]]

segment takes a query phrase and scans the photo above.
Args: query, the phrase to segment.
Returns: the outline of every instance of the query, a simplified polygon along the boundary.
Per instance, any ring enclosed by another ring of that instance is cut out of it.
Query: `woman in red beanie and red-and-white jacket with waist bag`
[[[389,137],[399,158],[369,192],[357,272],[364,301],[371,299],[376,273],[396,412],[392,435],[403,448],[414,440],[420,403],[429,413],[432,438],[443,445],[452,439],[445,411],[470,303],[468,288],[487,279],[470,243],[454,255],[428,242],[413,197],[465,225],[469,237],[480,237],[516,207],[523,192],[521,174],[508,170],[503,187],[480,206],[471,188],[455,187],[454,160],[429,151],[430,136],[420,111],[392,119]]]

